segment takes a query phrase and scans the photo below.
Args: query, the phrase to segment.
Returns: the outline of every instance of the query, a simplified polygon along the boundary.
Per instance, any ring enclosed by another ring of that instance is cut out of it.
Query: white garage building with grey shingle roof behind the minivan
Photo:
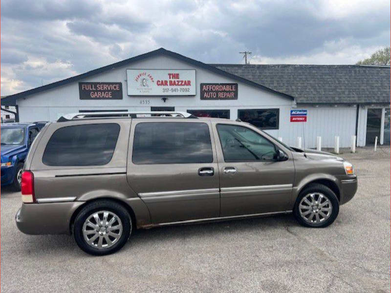
[[[20,121],[85,111],[189,111],[241,119],[288,145],[390,143],[390,66],[205,64],[160,48],[1,99]],[[305,122],[295,122],[303,121]]]

